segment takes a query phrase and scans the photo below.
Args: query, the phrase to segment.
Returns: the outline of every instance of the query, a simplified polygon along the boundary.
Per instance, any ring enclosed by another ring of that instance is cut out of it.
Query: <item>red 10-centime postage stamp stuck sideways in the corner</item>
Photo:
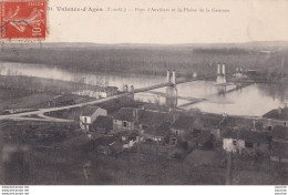
[[[1,39],[45,39],[47,0],[0,0]]]

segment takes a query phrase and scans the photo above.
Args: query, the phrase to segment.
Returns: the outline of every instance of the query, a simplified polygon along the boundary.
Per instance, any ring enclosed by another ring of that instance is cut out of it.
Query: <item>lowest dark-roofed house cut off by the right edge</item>
[[[270,160],[278,163],[288,163],[288,143],[272,142]]]

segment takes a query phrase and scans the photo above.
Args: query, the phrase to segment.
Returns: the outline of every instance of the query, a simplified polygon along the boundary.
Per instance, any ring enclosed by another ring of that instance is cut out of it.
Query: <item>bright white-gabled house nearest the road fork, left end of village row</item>
[[[80,115],[81,130],[90,131],[91,124],[97,119],[97,116],[107,115],[107,111],[97,106],[85,106]]]

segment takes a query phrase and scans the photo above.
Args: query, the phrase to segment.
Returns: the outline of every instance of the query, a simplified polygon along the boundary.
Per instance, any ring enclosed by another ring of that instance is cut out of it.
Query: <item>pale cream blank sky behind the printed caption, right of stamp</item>
[[[60,7],[121,8],[126,12],[59,11]],[[50,0],[49,8],[47,42],[176,44],[288,41],[286,0]],[[147,11],[151,8],[171,11]],[[197,12],[184,12],[184,8],[196,9]],[[172,12],[173,9],[182,12]],[[228,12],[214,12],[213,9]]]

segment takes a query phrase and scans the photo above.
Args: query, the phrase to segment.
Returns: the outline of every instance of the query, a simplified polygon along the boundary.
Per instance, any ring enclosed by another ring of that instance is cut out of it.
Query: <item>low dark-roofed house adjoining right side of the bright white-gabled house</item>
[[[113,117],[106,115],[97,116],[96,121],[92,124],[92,130],[97,133],[107,134],[113,130]]]

